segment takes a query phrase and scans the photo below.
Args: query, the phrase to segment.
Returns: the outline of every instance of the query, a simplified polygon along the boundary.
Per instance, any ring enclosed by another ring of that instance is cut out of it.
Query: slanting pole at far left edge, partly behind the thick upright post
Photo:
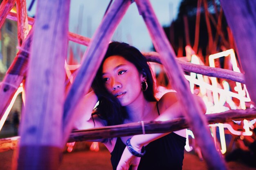
[[[11,66],[8,68],[6,75],[0,86],[0,122],[3,124],[2,117],[9,106],[11,99],[22,83],[27,72],[28,57],[30,44],[32,40],[33,29],[23,42]]]

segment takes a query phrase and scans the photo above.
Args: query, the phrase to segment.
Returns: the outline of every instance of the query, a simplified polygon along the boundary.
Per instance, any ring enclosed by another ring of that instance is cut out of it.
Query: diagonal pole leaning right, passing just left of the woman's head
[[[110,9],[104,16],[97,31],[92,37],[92,41],[83,56],[83,62],[74,79],[70,91],[64,104],[63,115],[63,138],[64,143],[67,141],[70,131],[73,126],[73,113],[76,103],[81,97],[90,89],[93,78],[101,64],[101,61],[107,51],[108,43],[119,22],[126,13],[131,1],[130,0],[116,0],[111,5]]]

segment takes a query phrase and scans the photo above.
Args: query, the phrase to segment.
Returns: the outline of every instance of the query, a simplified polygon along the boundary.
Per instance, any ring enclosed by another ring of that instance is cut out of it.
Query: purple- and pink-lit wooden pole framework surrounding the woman
[[[256,7],[256,3],[249,0],[239,2],[239,4],[236,4],[235,10],[234,8],[229,9],[229,5],[231,2],[234,3],[234,1],[222,1],[222,7],[227,21],[234,33],[238,53],[241,59],[243,59],[245,84],[248,86],[253,102],[256,102],[256,93],[253,90],[254,84],[256,83],[256,76],[253,74],[253,70],[256,69],[254,64],[255,59],[253,57],[256,52],[256,49],[253,48],[256,42],[256,23],[254,22],[256,15],[253,9]],[[207,128],[207,124],[211,123],[211,121],[207,122],[207,117],[200,114],[198,105],[193,101],[189,86],[182,73],[182,67],[175,60],[175,53],[168,43],[162,27],[157,21],[150,2],[148,0],[135,0],[135,2],[140,15],[147,25],[153,44],[159,53],[157,57],[160,58],[160,61],[166,68],[168,77],[172,80],[175,79],[175,81],[172,81],[173,86],[177,93],[179,93],[180,102],[184,104],[183,119],[163,123],[165,129],[150,127],[152,122],[149,122],[146,124],[148,126],[145,126],[146,132],[166,132],[168,130],[190,127],[194,132],[198,145],[202,149],[204,159],[207,161],[209,169],[227,169],[225,161],[214,146],[209,128]],[[115,29],[131,4],[131,0],[115,0],[113,2],[97,31],[94,33],[92,40],[68,32],[67,18],[70,8],[69,0],[55,0],[54,2],[50,0],[38,1],[38,11],[36,13],[37,18],[35,22],[33,19],[27,18],[25,0],[17,0],[16,2],[18,15],[9,13],[14,3],[14,0],[4,0],[0,5],[0,26],[2,26],[6,17],[17,20],[19,28],[18,39],[19,45],[21,46],[16,59],[13,61],[0,87],[0,101],[5,101],[0,102],[0,118],[2,118],[9,99],[12,98],[15,90],[27,74],[26,107],[20,127],[21,139],[17,169],[55,170],[59,167],[61,149],[70,136],[72,122],[76,117],[76,113],[74,113],[76,103],[78,103],[89,90],[93,80],[92,75],[96,74],[107,50],[108,42],[110,42]],[[247,3],[250,3],[250,5],[248,6]],[[235,19],[232,18],[234,16],[233,13],[236,13],[238,17],[242,18],[242,13],[246,13],[248,10],[252,11],[253,15],[245,16],[243,23],[241,22],[239,23],[239,27],[235,27]],[[33,29],[31,29],[27,36],[27,24],[32,22],[34,22]],[[249,25],[251,32],[247,32],[245,25]],[[64,101],[64,58],[67,54],[67,40],[85,45],[89,44],[89,46],[83,56],[84,60],[76,75],[76,79]],[[243,44],[247,45],[244,47]],[[148,56],[152,58],[152,54],[148,54]],[[153,56],[155,56],[155,54]],[[22,63],[22,65],[19,63]],[[187,66],[187,64],[181,65],[183,68]],[[199,66],[199,69],[193,69],[191,66],[187,66],[186,68],[186,71],[193,70],[194,72],[201,72],[216,77],[223,76],[222,73],[232,73],[233,75],[224,75],[224,77],[229,79],[233,77],[233,80],[238,81],[239,79],[240,82],[244,83],[243,74],[222,71],[220,75],[217,73],[218,69],[211,69],[211,71],[216,73],[214,74],[209,73],[209,68],[202,66]],[[202,71],[200,68],[204,68],[205,70]],[[236,115],[237,113],[238,116]],[[246,113],[248,113],[248,110]],[[256,117],[255,109],[249,110],[249,114],[246,116],[241,114],[240,111],[236,112],[234,115],[232,119],[243,116]],[[218,119],[218,116],[214,122],[216,122],[216,120],[219,122],[227,121],[227,119]],[[181,126],[183,123],[184,125]],[[158,126],[158,124],[162,123],[153,122],[153,125]],[[132,124],[125,126],[132,127]],[[135,126],[137,126],[137,124]],[[149,128],[147,129],[147,127]],[[137,127],[137,129],[138,128],[140,127]],[[157,130],[150,131],[152,128]],[[130,129],[128,128],[128,130]],[[126,131],[115,134],[115,136],[105,135],[99,137],[116,137],[131,134],[141,134],[141,132],[127,132],[126,128]],[[99,138],[93,135],[89,137],[88,134],[82,135],[85,136],[83,137],[84,139]]]

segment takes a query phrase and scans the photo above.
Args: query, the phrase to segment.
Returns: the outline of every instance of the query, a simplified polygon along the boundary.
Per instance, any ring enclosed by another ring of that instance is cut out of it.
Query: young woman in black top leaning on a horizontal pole
[[[166,93],[159,100],[155,98],[154,81],[146,58],[126,43],[109,44],[92,88],[79,104],[83,118],[75,124],[78,129],[166,121],[182,115],[176,93]],[[99,105],[91,117],[98,100]],[[202,104],[200,98],[197,100]],[[181,170],[185,137],[186,130],[179,130],[115,137],[100,142],[110,151],[114,170]]]

